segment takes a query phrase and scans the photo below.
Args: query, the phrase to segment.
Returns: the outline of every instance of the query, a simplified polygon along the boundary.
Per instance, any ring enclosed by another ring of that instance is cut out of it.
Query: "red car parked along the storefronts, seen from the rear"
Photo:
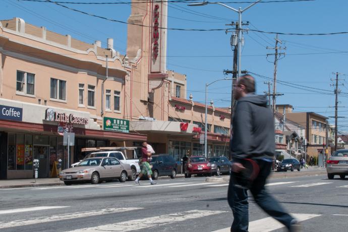
[[[211,176],[210,162],[204,156],[190,156],[184,168],[185,178],[190,178],[191,175]]]

